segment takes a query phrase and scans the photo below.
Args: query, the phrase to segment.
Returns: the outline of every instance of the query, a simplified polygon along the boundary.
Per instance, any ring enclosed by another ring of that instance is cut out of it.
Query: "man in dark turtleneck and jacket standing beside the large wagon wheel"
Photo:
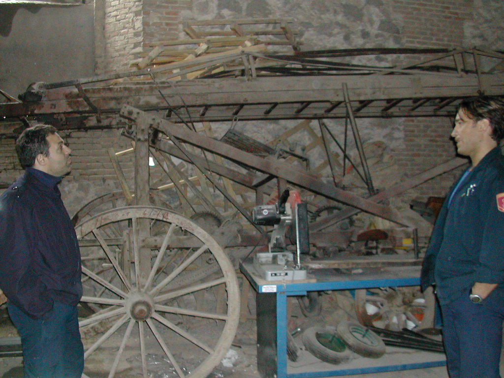
[[[0,197],[0,288],[23,346],[25,378],[80,378],[79,244],[57,184],[72,152],[37,125],[16,142],[25,173]]]

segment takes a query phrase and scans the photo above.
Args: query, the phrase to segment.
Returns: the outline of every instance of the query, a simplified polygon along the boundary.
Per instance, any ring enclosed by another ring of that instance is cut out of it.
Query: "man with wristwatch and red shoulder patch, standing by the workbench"
[[[471,166],[432,231],[421,275],[435,285],[451,378],[499,378],[504,320],[504,101],[463,101],[452,137]]]

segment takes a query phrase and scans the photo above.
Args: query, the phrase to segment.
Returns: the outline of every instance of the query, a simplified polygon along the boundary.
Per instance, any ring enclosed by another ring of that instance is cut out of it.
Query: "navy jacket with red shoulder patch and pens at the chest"
[[[495,283],[497,292],[504,291],[504,198],[499,202],[499,194],[504,197],[504,157],[496,147],[452,187],[434,225],[421,285],[425,290],[435,283],[441,304],[469,295],[475,282]]]

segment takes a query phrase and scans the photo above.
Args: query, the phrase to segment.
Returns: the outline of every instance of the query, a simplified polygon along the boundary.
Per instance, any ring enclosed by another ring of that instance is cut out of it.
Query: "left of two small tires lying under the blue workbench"
[[[342,350],[329,349],[328,347],[321,344],[317,336],[324,336],[325,338],[335,337],[338,347]],[[332,364],[339,364],[341,362],[348,361],[353,353],[346,346],[346,344],[341,340],[341,338],[331,330],[323,327],[310,327],[303,332],[302,341],[305,349],[313,354],[315,357],[321,359],[322,361],[329,362]]]

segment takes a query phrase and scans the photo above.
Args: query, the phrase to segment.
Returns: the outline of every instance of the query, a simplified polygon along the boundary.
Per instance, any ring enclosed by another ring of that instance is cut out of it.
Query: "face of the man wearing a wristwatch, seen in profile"
[[[457,152],[464,156],[473,156],[483,141],[483,134],[474,119],[460,109],[455,117],[452,137],[457,143]]]

